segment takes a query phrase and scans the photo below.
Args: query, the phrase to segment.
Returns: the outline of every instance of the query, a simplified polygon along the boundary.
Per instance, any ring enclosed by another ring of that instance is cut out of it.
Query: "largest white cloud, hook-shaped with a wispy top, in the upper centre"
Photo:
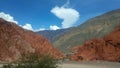
[[[73,8],[68,7],[69,2],[67,2],[62,7],[54,7],[51,12],[60,19],[63,19],[62,28],[68,28],[73,26],[79,19],[79,12]],[[66,7],[67,6],[67,7]]]

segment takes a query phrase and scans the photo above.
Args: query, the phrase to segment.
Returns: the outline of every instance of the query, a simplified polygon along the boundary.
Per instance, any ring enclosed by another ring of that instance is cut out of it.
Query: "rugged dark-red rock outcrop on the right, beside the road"
[[[103,39],[92,39],[73,48],[74,61],[105,60],[120,62],[120,26]]]

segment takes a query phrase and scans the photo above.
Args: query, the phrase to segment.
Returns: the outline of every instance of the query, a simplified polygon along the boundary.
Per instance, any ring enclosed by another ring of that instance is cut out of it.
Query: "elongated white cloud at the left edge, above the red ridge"
[[[12,17],[10,14],[6,14],[4,12],[0,12],[0,18],[3,18],[6,21],[13,22],[18,24],[17,21],[14,20],[14,17]]]

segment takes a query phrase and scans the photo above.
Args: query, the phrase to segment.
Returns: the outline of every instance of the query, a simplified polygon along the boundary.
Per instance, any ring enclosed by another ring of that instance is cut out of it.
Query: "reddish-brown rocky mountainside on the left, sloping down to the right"
[[[47,39],[0,18],[0,61],[15,61],[29,53],[64,57]]]

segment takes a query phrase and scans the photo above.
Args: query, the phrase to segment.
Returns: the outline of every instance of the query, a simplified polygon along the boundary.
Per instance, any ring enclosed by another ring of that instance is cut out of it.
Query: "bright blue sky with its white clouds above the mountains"
[[[0,0],[0,17],[12,17],[13,22],[33,31],[56,30],[119,8],[120,0]]]

